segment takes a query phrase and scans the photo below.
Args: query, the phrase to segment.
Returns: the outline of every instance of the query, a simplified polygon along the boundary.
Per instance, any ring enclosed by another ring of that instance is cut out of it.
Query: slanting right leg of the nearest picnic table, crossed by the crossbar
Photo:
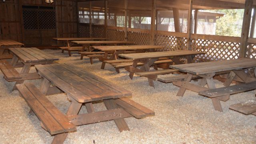
[[[118,108],[113,99],[103,100],[103,102],[108,110]],[[116,126],[118,127],[120,132],[124,130],[130,130],[124,118],[114,119],[114,122],[116,123]]]

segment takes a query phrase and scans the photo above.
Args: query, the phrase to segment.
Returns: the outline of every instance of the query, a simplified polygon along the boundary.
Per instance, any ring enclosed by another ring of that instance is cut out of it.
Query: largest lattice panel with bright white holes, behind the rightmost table
[[[238,42],[221,42],[214,40],[192,40],[192,49],[205,52],[198,56],[201,61],[230,60],[239,58]]]

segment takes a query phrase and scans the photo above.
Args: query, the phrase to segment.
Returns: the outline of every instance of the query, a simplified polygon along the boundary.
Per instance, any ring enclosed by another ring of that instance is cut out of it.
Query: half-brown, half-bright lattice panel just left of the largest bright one
[[[178,38],[175,36],[156,34],[154,43],[155,45],[165,47],[164,49],[159,49],[158,51],[186,50],[187,48],[187,38]]]

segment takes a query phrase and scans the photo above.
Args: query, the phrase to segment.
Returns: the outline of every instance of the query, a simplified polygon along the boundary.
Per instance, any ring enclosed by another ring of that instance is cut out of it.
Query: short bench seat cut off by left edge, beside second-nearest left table
[[[12,80],[12,79],[20,79],[22,76],[20,75],[15,68],[10,65],[9,62],[6,60],[0,60],[0,69],[4,74],[4,78],[6,80]]]

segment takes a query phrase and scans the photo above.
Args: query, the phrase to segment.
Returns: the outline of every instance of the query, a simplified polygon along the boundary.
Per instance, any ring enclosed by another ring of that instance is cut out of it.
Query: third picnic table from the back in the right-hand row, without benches
[[[119,54],[123,54],[127,50],[142,50],[142,52],[154,52],[155,49],[164,48],[163,46],[155,46],[155,45],[133,45],[133,46],[93,46],[96,50],[104,51],[105,54],[103,57],[99,58],[102,61],[101,69],[104,69],[105,62],[104,60],[117,60]],[[108,55],[112,54],[110,58]]]

